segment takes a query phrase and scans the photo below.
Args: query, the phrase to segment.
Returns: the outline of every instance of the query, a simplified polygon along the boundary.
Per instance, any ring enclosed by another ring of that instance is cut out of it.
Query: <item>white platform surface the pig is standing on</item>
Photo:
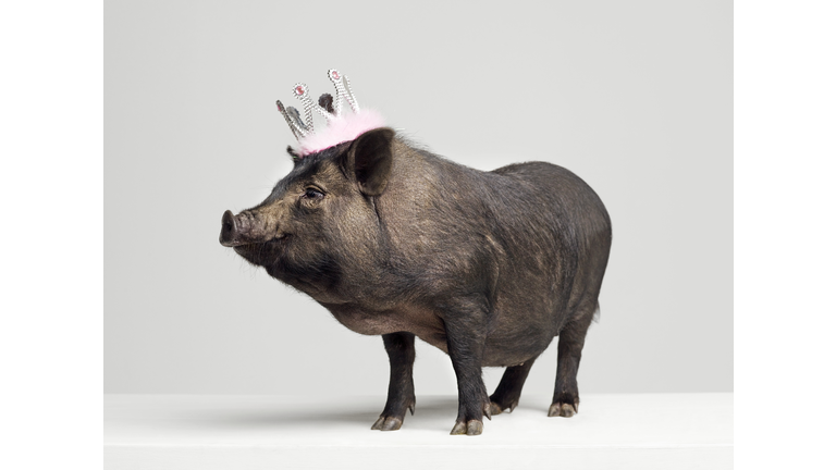
[[[573,418],[524,393],[480,436],[455,397],[418,396],[394,432],[383,397],[106,395],[104,469],[730,469],[733,394],[581,395]]]

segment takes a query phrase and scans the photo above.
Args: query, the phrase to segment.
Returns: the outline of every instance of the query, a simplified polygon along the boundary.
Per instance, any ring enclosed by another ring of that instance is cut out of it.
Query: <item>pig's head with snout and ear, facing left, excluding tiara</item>
[[[222,218],[221,245],[315,298],[340,295],[346,276],[368,273],[384,245],[374,199],[390,180],[394,131],[297,159],[260,205]]]

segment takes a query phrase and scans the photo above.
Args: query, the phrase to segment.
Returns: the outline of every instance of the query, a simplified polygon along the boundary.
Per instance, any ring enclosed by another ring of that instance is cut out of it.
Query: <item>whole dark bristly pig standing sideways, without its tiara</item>
[[[578,412],[577,373],[599,308],[612,228],[598,195],[545,162],[483,172],[390,127],[294,157],[258,206],[224,212],[221,245],[309,295],[352,331],[381,335],[389,394],[373,430],[415,412],[415,338],[447,354],[458,386],[451,434],[517,406],[554,337],[550,417]],[[506,368],[492,395],[483,367]]]

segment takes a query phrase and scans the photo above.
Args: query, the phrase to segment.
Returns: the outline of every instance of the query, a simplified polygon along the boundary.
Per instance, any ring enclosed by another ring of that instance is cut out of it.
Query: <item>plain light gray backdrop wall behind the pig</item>
[[[380,337],[218,244],[292,166],[275,99],[331,91],[330,67],[454,161],[545,160],[598,191],[614,242],[581,394],[732,391],[732,2],[104,8],[107,393],[385,393]],[[555,346],[528,393],[552,392]],[[456,393],[423,343],[415,380]]]

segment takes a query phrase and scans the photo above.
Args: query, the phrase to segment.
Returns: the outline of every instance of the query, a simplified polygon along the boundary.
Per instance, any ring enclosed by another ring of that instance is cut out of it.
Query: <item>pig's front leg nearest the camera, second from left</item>
[[[479,435],[482,416],[491,419],[491,400],[482,381],[484,318],[481,313],[455,313],[444,319],[447,352],[458,384],[458,417],[451,434]]]

